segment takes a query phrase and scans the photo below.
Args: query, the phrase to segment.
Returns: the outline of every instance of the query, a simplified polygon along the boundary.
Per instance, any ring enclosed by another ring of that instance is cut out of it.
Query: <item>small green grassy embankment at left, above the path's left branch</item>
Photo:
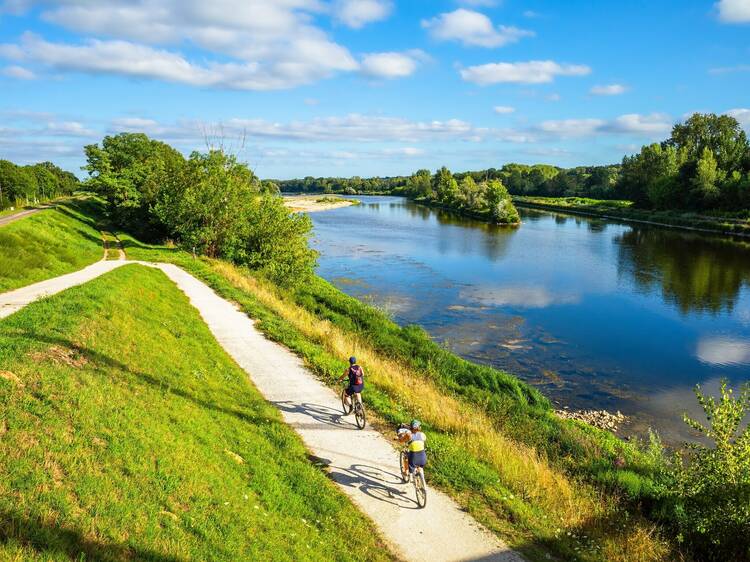
[[[58,203],[0,227],[0,292],[76,271],[100,260],[93,199]]]

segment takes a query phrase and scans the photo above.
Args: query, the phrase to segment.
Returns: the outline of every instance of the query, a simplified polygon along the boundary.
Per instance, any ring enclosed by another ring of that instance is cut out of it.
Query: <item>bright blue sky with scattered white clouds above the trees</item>
[[[0,0],[0,158],[143,132],[263,178],[607,164],[750,129],[750,0]]]

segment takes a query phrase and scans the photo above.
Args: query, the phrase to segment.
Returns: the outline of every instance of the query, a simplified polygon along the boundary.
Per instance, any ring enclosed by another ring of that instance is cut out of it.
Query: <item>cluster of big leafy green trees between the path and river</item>
[[[107,201],[116,225],[247,266],[281,285],[312,274],[310,219],[290,214],[278,188],[236,156],[210,149],[185,158],[141,133],[107,136],[84,151],[86,186]]]

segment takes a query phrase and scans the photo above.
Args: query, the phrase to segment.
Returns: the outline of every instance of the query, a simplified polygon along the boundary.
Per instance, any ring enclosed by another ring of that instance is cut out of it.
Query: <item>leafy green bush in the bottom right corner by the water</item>
[[[685,422],[712,444],[688,445],[670,471],[678,540],[699,560],[750,560],[750,384],[735,397],[723,381],[718,401],[700,387],[695,394],[708,425]]]

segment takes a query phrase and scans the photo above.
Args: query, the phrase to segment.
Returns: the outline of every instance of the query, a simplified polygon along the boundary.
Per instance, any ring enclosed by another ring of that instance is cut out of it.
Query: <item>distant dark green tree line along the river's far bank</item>
[[[422,177],[424,170],[411,176],[306,177],[277,184],[285,192],[412,195],[419,193],[413,186]],[[467,177],[478,185],[499,180],[512,195],[629,199],[637,207],[659,210],[746,209],[750,145],[735,118],[696,113],[675,125],[668,139],[625,156],[621,164],[560,168],[509,163],[454,174],[459,187]],[[465,187],[466,193],[473,192],[471,185]]]

